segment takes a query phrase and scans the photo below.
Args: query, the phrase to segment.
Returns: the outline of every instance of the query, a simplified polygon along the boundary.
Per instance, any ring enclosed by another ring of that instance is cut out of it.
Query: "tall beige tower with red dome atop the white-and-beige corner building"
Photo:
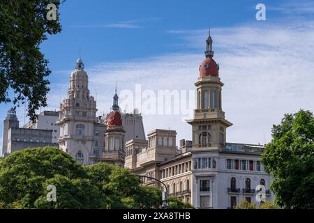
[[[220,81],[219,66],[213,59],[213,40],[210,32],[206,44],[205,59],[200,65],[200,76],[195,83],[197,107],[193,120],[187,121],[193,128],[194,151],[224,148],[226,129],[232,125],[225,119],[222,109],[223,82]]]

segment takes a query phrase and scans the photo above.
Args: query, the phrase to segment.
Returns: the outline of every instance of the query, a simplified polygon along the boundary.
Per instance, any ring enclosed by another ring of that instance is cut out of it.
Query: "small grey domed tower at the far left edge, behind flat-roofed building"
[[[9,109],[6,119],[3,120],[2,155],[6,155],[8,152],[8,130],[10,128],[19,128],[19,124],[15,109]]]

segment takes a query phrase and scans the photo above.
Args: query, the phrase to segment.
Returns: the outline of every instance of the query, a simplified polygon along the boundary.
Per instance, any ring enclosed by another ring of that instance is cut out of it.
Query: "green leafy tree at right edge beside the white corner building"
[[[314,208],[314,117],[310,111],[285,114],[273,125],[262,162],[274,180],[271,190],[283,208]]]

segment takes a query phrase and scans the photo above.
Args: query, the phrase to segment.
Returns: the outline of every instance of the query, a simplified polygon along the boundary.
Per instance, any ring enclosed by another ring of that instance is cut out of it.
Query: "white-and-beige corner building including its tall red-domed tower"
[[[264,172],[263,146],[226,142],[226,130],[232,125],[222,109],[219,66],[214,61],[209,34],[205,59],[195,82],[197,107],[192,120],[192,141],[181,140],[176,149],[176,132],[154,130],[148,141],[126,142],[125,167],[143,178],[144,184],[157,185],[168,194],[190,202],[196,208],[234,208],[241,200],[271,201],[271,176]],[[258,187],[257,187],[258,186]],[[258,192],[257,189],[262,191]],[[257,196],[258,195],[258,196]]]

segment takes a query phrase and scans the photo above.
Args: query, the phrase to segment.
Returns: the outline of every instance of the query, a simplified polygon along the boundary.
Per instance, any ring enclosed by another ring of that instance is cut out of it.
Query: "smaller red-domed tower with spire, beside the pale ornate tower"
[[[124,126],[119,112],[117,86],[113,97],[112,112],[107,114],[107,129],[105,130],[105,150],[101,160],[116,166],[124,167]]]

